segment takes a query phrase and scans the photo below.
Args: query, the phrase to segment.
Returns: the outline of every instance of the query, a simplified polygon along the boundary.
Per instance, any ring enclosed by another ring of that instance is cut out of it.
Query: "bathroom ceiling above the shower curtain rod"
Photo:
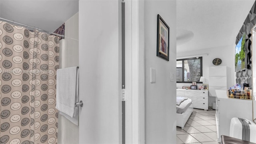
[[[0,17],[54,32],[78,12],[78,0],[0,0]]]

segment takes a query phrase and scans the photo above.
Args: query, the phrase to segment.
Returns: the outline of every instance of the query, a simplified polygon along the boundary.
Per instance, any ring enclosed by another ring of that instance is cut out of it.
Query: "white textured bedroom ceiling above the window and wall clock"
[[[255,0],[177,0],[177,53],[235,45]]]

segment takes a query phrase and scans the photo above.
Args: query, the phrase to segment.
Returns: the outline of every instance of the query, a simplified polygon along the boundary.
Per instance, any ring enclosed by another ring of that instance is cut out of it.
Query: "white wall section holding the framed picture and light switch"
[[[176,1],[145,0],[145,134],[147,144],[176,143]],[[170,61],[156,56],[157,14],[170,27]],[[156,83],[150,83],[156,68]]]

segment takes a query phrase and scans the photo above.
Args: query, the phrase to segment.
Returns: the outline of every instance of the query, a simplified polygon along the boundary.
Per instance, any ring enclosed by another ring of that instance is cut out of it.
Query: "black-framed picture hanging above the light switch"
[[[157,48],[156,56],[169,61],[169,36],[170,28],[163,18],[157,15]]]

